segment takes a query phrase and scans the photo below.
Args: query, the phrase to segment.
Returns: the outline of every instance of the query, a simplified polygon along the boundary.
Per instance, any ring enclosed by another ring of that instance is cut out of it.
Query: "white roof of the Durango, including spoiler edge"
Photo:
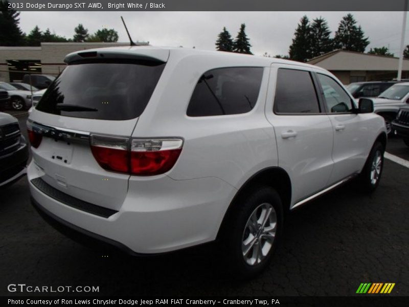
[[[103,57],[107,58],[121,58],[126,57],[126,55],[137,56],[141,59],[156,59],[166,62],[169,59],[170,54],[179,56],[189,56],[189,55],[202,55],[208,57],[235,57],[236,60],[242,61],[243,64],[254,64],[258,66],[269,66],[271,63],[283,63],[283,64],[296,64],[303,67],[309,67],[314,69],[323,70],[324,69],[302,62],[296,62],[291,60],[271,58],[264,56],[256,56],[249,54],[240,54],[233,52],[222,52],[222,51],[210,51],[210,50],[199,50],[191,48],[181,48],[181,47],[154,47],[154,46],[126,46],[126,47],[108,47],[108,48],[97,48],[97,49],[87,49],[80,50],[67,55],[64,59],[66,63],[73,61],[83,60],[87,57],[95,57],[95,53],[104,54]]]

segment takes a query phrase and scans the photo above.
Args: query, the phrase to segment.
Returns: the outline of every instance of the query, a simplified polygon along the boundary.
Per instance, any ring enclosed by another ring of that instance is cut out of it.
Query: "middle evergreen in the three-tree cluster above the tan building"
[[[331,31],[324,18],[320,17],[313,19],[310,27],[311,58],[332,51],[332,39],[329,37],[330,34]]]

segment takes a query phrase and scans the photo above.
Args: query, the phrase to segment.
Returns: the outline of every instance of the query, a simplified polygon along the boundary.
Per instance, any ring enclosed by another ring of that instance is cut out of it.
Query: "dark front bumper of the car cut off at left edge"
[[[24,138],[21,138],[18,150],[0,157],[0,187],[18,180],[27,173],[29,150]]]

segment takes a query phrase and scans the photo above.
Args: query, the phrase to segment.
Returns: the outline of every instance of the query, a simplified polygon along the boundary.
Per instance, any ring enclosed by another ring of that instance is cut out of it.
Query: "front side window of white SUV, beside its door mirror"
[[[317,74],[324,91],[325,103],[329,113],[346,113],[353,109],[351,97],[331,77]]]

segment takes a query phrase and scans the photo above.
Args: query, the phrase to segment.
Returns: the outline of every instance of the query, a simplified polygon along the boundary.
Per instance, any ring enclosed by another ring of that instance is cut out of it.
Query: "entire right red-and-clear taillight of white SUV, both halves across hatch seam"
[[[181,139],[133,139],[91,136],[91,150],[98,164],[111,171],[153,176],[170,170],[183,145]]]

